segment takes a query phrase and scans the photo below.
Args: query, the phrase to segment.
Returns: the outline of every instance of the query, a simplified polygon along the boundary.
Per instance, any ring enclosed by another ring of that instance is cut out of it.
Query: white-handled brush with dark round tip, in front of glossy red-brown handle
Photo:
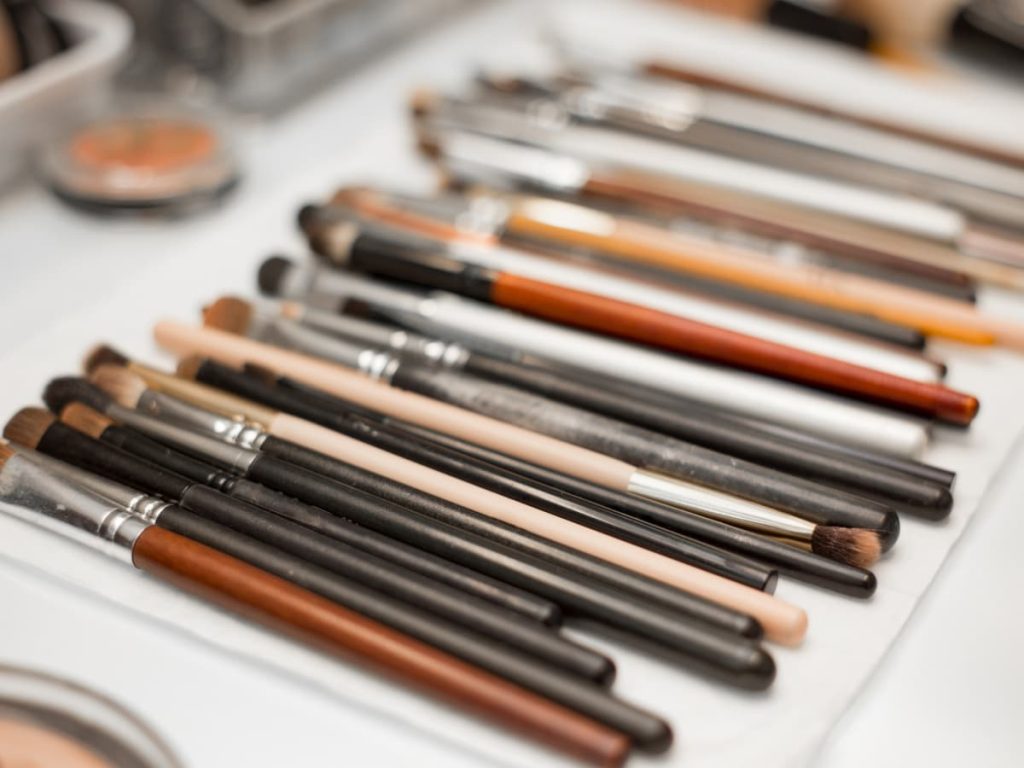
[[[280,257],[263,262],[259,284],[264,293],[357,303],[403,327],[473,349],[531,354],[886,453],[915,456],[928,442],[925,425],[904,415],[526,317],[454,294],[424,293],[355,273],[300,268]]]

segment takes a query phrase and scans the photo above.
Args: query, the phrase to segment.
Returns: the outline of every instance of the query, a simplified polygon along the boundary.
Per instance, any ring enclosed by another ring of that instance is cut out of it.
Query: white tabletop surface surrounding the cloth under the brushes
[[[268,222],[265,201],[292,187],[306,195],[328,191],[351,162],[350,147],[404,125],[402,97],[412,87],[459,82],[466,67],[483,55],[481,41],[536,23],[529,7],[515,5],[470,14],[340,80],[300,109],[240,126],[247,180],[216,214],[166,225],[111,224],[68,211],[33,184],[0,198],[0,354],[14,364],[5,368],[0,390],[4,415],[36,399],[47,375],[77,366],[89,329],[77,327],[75,318],[113,314],[116,319],[116,312],[103,307],[111,289],[154,290],[158,274],[173,275],[160,283],[162,294],[191,295],[202,278],[175,271],[174,264],[181,260],[195,267],[195,259],[188,262],[183,254],[213,240],[223,243],[225,231],[238,231],[239,248],[246,249],[248,230],[256,229],[265,249],[225,253],[225,261],[248,264],[249,271],[232,268],[228,280],[212,266],[206,295],[225,289],[251,293],[252,266],[269,251],[297,246],[288,220],[294,206],[278,208],[280,220]],[[425,171],[421,175],[428,177]],[[123,317],[112,340],[148,352],[152,319]],[[1024,566],[1015,551],[1024,535],[1022,467],[1024,456],[1018,452],[902,636],[812,764],[953,766],[972,761],[987,767],[1024,760],[1024,664],[1019,658]],[[494,761],[493,751],[475,754],[465,740],[456,743],[432,730],[429,708],[423,710],[421,727],[396,729],[373,702],[340,700],[266,666],[232,658],[6,556],[0,556],[0,662],[63,674],[119,698],[156,724],[184,762],[197,768]],[[442,715],[436,715],[441,722]],[[502,738],[486,728],[478,734]],[[527,764],[521,754],[508,755],[509,764]]]

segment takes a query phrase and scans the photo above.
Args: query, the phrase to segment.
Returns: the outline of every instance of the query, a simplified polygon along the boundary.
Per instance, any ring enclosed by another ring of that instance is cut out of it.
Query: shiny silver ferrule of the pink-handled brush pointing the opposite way
[[[713,520],[773,536],[809,541],[814,532],[814,523],[802,517],[658,472],[637,470],[630,477],[629,492]]]

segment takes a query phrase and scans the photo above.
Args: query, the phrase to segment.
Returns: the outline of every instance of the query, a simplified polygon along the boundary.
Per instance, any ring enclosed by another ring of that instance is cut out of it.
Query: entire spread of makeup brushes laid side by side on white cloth
[[[925,346],[1024,346],[975,305],[1024,172],[684,80],[418,94],[446,186],[304,207],[268,298],[156,326],[174,372],[94,349],[7,423],[4,509],[598,765],[672,730],[563,620],[767,689],[780,578],[867,599],[949,514],[920,456],[979,403]]]

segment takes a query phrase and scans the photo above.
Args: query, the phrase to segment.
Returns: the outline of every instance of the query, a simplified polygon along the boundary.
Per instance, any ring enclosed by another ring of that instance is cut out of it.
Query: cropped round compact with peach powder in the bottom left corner
[[[0,766],[180,768],[163,740],[113,701],[58,678],[0,666]]]

